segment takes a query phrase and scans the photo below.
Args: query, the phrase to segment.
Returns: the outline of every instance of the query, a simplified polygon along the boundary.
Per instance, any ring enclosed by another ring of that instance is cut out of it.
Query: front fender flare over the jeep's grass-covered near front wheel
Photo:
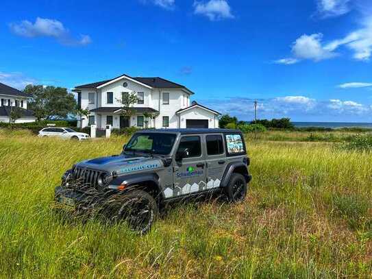
[[[160,195],[164,197],[164,193],[162,193],[162,189],[159,183],[159,176],[156,173],[143,173],[143,174],[132,174],[132,175],[121,175],[117,178],[114,178],[109,185],[111,190],[115,190],[117,186],[125,185],[126,189],[130,188],[130,186],[135,186],[136,184],[144,183],[144,182],[151,182],[152,184],[156,185],[156,188]]]

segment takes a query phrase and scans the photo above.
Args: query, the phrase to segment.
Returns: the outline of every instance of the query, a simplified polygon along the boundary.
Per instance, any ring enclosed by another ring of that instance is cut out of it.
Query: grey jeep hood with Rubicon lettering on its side
[[[79,162],[76,167],[97,169],[100,171],[116,171],[118,175],[132,173],[135,171],[147,171],[162,167],[162,160],[145,156],[114,155],[108,157],[95,158]]]

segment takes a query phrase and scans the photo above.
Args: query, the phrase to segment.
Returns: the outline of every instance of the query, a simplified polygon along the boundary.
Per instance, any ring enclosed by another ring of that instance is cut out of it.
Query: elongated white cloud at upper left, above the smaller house
[[[51,37],[63,45],[88,45],[92,43],[90,36],[80,35],[73,38],[64,25],[55,19],[36,18],[35,23],[21,21],[21,23],[10,23],[10,29],[18,36],[26,38]]]

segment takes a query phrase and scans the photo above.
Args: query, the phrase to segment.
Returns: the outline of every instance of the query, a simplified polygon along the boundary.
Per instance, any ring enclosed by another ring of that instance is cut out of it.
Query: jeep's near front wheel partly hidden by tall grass
[[[127,221],[129,228],[145,234],[156,221],[159,210],[155,199],[149,193],[135,190],[110,197],[105,212],[111,221]]]

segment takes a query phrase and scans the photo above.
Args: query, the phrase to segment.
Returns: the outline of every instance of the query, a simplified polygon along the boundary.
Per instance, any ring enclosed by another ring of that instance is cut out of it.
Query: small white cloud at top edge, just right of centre
[[[210,21],[234,19],[230,5],[225,0],[210,0],[208,2],[194,2],[194,13],[207,16]]]

